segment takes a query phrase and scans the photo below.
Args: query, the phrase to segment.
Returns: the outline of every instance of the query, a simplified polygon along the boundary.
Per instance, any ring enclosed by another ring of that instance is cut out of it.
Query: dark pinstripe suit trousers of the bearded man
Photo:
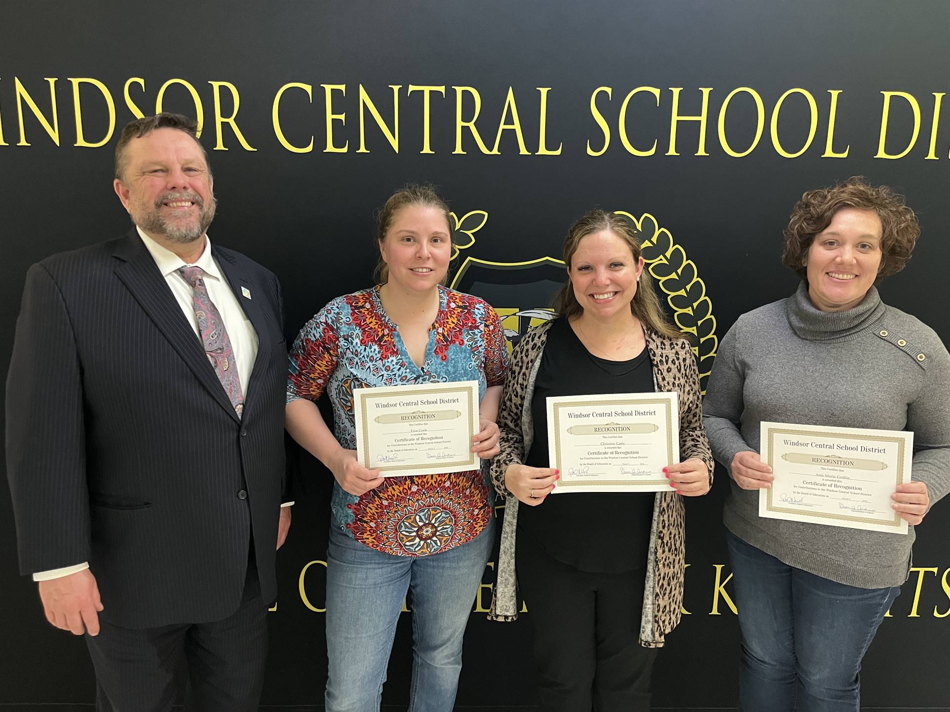
[[[253,549],[252,549],[253,551]],[[240,606],[212,623],[122,628],[100,619],[85,636],[96,669],[99,712],[166,712],[187,667],[185,708],[196,712],[257,712],[267,653],[267,605],[252,556]]]

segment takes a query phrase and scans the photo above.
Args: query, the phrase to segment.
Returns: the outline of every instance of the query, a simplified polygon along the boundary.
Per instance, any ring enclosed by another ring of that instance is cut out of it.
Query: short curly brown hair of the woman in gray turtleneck
[[[878,279],[901,272],[921,234],[917,215],[904,204],[901,194],[886,185],[875,187],[863,176],[853,176],[832,188],[808,191],[795,203],[785,229],[782,262],[807,280],[808,248],[842,208],[873,210],[878,215],[882,253]]]

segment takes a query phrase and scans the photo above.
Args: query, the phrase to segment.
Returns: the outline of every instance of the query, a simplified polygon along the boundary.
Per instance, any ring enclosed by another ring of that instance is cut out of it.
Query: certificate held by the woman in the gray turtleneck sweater
[[[914,434],[763,422],[762,461],[775,476],[759,516],[907,534],[891,494],[910,481]]]

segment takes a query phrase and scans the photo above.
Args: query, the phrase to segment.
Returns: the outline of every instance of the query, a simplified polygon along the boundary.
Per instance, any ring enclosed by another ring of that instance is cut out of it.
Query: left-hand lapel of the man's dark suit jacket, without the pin
[[[218,374],[208,363],[194,329],[184,318],[178,301],[168,289],[165,278],[135,229],[119,243],[113,257],[116,258],[116,276],[139,302],[142,310],[178,351],[181,360],[194,371],[212,398],[239,421],[234,406],[221,387]]]

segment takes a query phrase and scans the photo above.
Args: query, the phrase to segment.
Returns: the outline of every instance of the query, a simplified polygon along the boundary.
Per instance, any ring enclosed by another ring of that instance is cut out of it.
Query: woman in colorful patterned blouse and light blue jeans
[[[287,429],[333,472],[327,555],[328,712],[379,709],[407,591],[413,615],[409,709],[449,712],[462,636],[493,539],[486,468],[380,478],[356,459],[353,388],[478,381],[472,450],[498,453],[507,352],[498,315],[442,285],[452,253],[446,203],[408,186],[378,218],[382,284],[337,297],[300,331],[290,357]],[[315,401],[333,404],[333,432]]]

